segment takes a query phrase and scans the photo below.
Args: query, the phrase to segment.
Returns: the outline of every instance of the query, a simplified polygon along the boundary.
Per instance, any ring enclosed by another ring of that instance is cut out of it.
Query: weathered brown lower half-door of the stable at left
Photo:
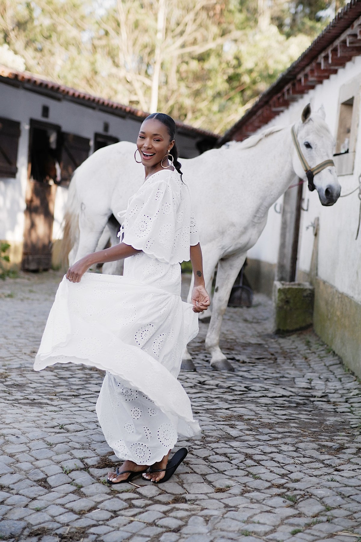
[[[55,194],[55,184],[28,179],[22,262],[22,269],[26,271],[41,271],[51,267]]]

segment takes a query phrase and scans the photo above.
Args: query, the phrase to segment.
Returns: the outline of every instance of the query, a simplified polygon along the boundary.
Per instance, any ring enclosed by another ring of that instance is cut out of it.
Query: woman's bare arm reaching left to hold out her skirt
[[[114,247],[104,248],[104,250],[87,254],[87,256],[84,256],[75,262],[73,266],[69,267],[67,279],[71,282],[80,282],[83,274],[86,273],[89,267],[94,266],[96,263],[115,262],[139,252],[141,250],[136,250],[129,244],[120,243]]]

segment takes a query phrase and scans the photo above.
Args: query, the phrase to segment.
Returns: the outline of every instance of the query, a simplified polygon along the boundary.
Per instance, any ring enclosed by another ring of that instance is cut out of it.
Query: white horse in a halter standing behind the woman
[[[334,140],[324,122],[323,108],[311,114],[310,105],[306,106],[294,126],[310,167],[332,157]],[[119,224],[114,217],[126,209],[128,198],[144,180],[143,167],[134,161],[134,150],[135,145],[126,141],[104,147],[76,170],[69,188],[64,234],[70,238],[68,246],[73,247],[71,263],[97,247],[103,248],[109,230],[111,242],[117,242]],[[191,186],[208,291],[218,263],[206,349],[214,369],[233,370],[219,347],[231,288],[247,250],[266,225],[268,209],[295,179],[306,180],[305,171],[291,138],[291,126],[271,128],[242,143],[232,142],[181,162]],[[314,186],[321,204],[333,205],[341,190],[335,167],[319,172]],[[114,266],[104,271],[117,272]],[[186,359],[191,359],[187,353]]]

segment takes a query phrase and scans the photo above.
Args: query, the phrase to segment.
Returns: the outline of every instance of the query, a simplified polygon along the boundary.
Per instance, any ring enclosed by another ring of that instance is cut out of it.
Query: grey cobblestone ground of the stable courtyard
[[[189,454],[169,482],[108,487],[102,373],[32,371],[59,280],[0,285],[0,539],[361,540],[361,386],[316,335],[275,337],[271,302],[255,296],[227,310],[221,346],[235,372],[218,373],[201,324],[198,372],[180,379],[202,436],[178,443]]]

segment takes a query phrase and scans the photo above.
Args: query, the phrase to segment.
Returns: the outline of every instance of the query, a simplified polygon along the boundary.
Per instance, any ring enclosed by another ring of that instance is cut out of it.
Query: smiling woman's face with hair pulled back
[[[142,164],[154,167],[160,164],[174,145],[169,141],[167,127],[157,119],[148,119],[143,122],[136,145],[140,152]]]

